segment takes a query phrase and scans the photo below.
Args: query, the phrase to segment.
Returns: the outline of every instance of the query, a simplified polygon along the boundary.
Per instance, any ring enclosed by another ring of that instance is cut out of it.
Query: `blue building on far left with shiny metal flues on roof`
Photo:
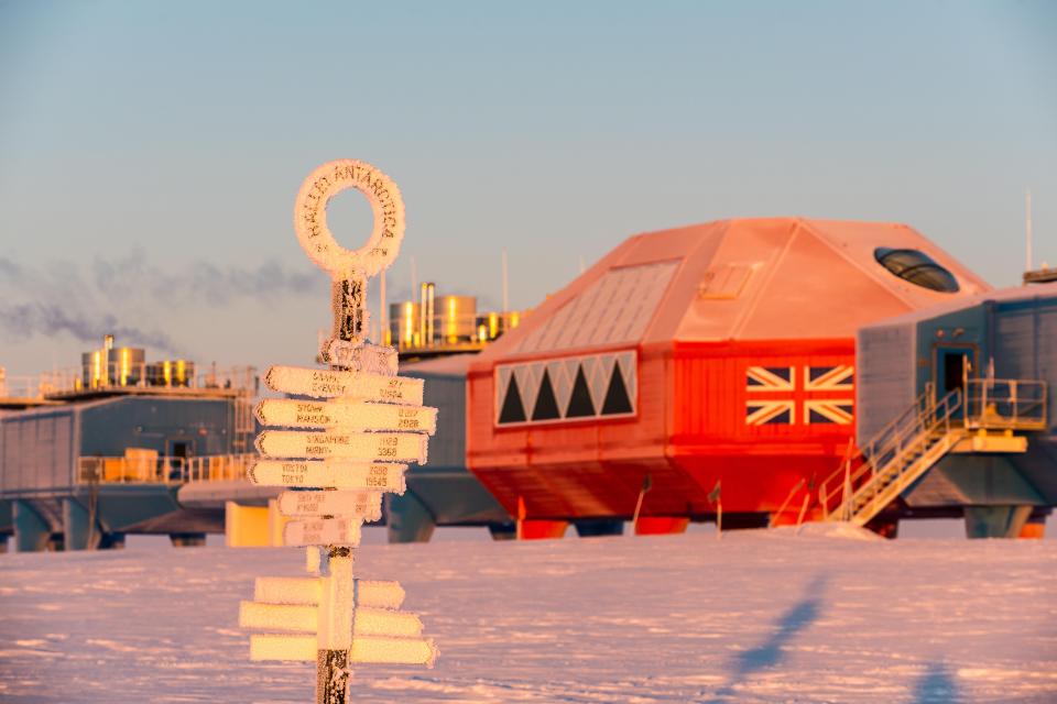
[[[192,481],[244,476],[255,457],[252,367],[203,373],[102,348],[74,370],[0,385],[0,549],[113,548],[127,534],[200,544],[224,510],[177,501]]]

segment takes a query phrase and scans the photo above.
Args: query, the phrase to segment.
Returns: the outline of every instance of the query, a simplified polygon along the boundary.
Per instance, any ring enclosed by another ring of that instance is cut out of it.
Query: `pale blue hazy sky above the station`
[[[907,222],[1010,285],[1026,187],[1057,262],[1057,3],[0,0],[0,365],[111,327],[310,361],[291,211],[339,157],[404,193],[396,293],[414,257],[498,305],[506,248],[533,306],[630,234],[770,215]]]

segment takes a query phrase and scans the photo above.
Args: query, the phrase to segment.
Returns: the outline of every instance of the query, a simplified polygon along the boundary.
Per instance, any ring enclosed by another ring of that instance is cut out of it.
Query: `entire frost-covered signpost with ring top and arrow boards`
[[[327,202],[347,188],[367,196],[374,212],[370,239],[352,251],[326,222]],[[295,490],[279,496],[280,512],[292,518],[283,544],[307,548],[315,576],[258,578],[239,623],[273,631],[250,637],[251,659],[315,660],[317,704],[344,704],[353,663],[432,666],[436,658],[418,617],[397,610],[399,583],[352,578],[352,549],[362,524],[381,518],[382,494],[404,492],[406,463],[426,461],[437,410],[422,405],[422,380],[396,375],[396,350],[366,339],[367,279],[392,263],[404,237],[396,184],[363,162],[324,164],[297,194],[294,230],[333,278],[334,332],[319,350],[329,369],[268,371],[270,388],[297,398],[258,406],[266,429],[250,480]]]

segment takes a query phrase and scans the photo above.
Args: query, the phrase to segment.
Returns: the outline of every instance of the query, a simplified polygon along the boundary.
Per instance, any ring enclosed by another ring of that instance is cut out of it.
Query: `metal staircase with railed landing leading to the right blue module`
[[[864,526],[948,452],[977,441],[1010,439],[1014,430],[1046,428],[1046,385],[1037,381],[967,380],[934,402],[922,394],[819,488],[825,520]],[[990,436],[998,430],[1002,436]],[[991,447],[991,451],[1023,451]],[[985,450],[980,450],[985,451]]]

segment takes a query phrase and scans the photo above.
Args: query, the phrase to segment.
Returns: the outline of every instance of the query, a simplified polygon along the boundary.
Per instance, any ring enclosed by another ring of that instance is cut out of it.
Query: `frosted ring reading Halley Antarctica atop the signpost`
[[[327,204],[348,188],[367,196],[374,211],[374,229],[358,250],[342,248],[327,228]],[[404,201],[396,184],[370,164],[351,158],[327,162],[308,175],[297,193],[294,230],[308,257],[335,279],[353,271],[373,276],[400,253]]]

